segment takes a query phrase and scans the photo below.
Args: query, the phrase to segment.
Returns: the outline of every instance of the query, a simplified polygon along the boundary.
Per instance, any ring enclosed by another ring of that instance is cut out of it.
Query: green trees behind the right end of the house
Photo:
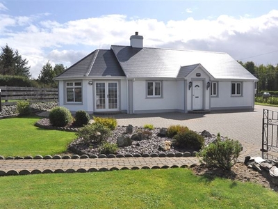
[[[257,93],[261,91],[278,91],[278,63],[274,65],[256,66],[253,61],[243,63],[238,61],[244,68],[252,73],[257,79]]]

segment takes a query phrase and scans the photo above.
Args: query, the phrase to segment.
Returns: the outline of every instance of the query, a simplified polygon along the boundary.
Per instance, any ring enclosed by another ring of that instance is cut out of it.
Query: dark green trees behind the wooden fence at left
[[[58,86],[54,77],[62,73],[66,67],[56,64],[54,67],[49,61],[42,66],[38,79],[31,78],[28,61],[23,59],[17,50],[8,45],[1,47],[0,54],[0,86],[28,86],[28,87],[54,87]]]

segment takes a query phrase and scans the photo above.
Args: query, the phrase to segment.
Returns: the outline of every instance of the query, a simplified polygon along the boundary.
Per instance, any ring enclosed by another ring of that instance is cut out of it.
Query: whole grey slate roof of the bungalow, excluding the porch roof
[[[227,53],[112,45],[97,49],[56,79],[81,77],[186,77],[201,64],[214,79],[257,80]]]

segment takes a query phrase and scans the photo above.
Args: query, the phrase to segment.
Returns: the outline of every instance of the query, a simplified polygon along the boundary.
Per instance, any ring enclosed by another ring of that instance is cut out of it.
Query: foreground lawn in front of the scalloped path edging
[[[196,177],[188,169],[0,178],[0,208],[277,208],[260,185]]]

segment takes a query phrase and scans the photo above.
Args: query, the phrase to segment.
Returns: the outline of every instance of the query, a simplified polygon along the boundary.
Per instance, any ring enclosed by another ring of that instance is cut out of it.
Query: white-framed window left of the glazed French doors
[[[81,82],[66,82],[65,88],[67,102],[82,102]]]

